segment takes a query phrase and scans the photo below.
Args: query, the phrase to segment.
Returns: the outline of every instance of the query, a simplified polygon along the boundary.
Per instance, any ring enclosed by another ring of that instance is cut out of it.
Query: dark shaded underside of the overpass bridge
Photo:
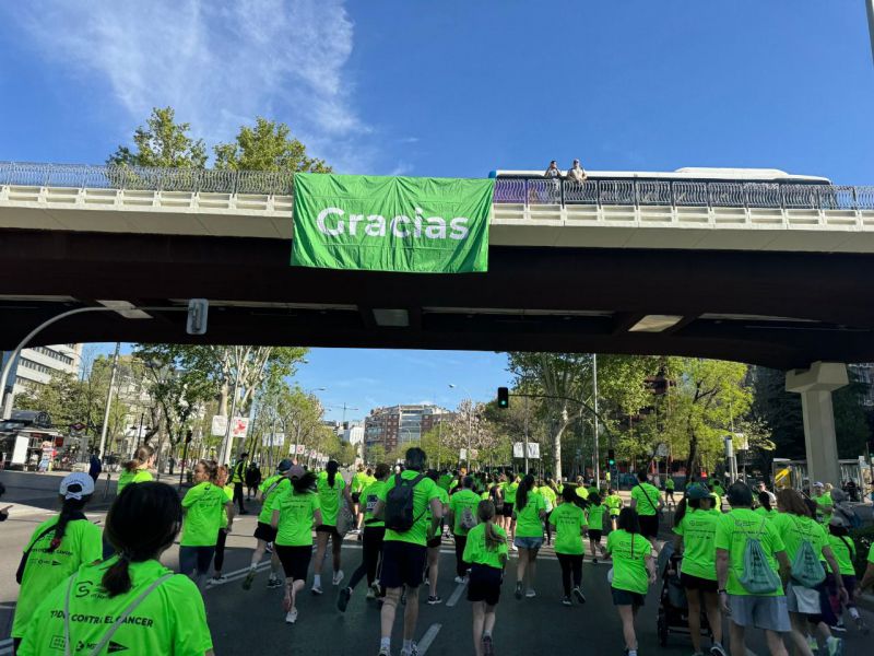
[[[294,268],[290,254],[281,239],[4,230],[0,348],[73,307],[204,297],[202,337],[153,311],[70,317],[36,341],[874,360],[871,255],[493,246],[487,273],[435,276]]]

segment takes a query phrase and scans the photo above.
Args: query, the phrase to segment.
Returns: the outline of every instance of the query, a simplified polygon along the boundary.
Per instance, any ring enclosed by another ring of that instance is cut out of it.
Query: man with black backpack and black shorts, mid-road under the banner
[[[379,491],[375,517],[386,522],[382,543],[382,578],[386,600],[382,604],[379,656],[391,654],[391,630],[394,614],[406,593],[403,617],[403,648],[401,656],[416,656],[413,637],[418,622],[418,588],[427,559],[427,543],[438,530],[442,517],[442,503],[437,484],[422,473],[426,454],[417,447],[406,449],[405,468],[390,478]],[[430,524],[425,512],[430,506]]]

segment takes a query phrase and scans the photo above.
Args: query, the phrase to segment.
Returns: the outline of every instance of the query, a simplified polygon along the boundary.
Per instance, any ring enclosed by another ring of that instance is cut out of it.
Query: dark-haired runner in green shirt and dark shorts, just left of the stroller
[[[607,536],[607,552],[613,557],[611,591],[619,614],[625,648],[637,653],[635,618],[643,605],[649,584],[656,583],[652,548],[642,535],[634,508],[619,512],[618,529]]]

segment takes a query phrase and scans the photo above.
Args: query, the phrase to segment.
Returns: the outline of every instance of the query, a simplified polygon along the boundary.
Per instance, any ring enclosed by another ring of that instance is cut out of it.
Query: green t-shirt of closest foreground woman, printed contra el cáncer
[[[99,582],[115,561],[116,558],[111,558],[96,565],[85,565],[74,574],[73,594],[70,595],[70,641],[73,645],[96,645],[145,588],[165,574],[172,574],[155,560],[131,563],[131,589],[110,598]],[[66,583],[55,587],[34,611],[19,648],[20,656],[63,654],[67,588]],[[143,599],[101,654],[203,656],[210,649],[212,637],[203,597],[188,576],[176,574]],[[74,652],[80,653],[75,647]]]

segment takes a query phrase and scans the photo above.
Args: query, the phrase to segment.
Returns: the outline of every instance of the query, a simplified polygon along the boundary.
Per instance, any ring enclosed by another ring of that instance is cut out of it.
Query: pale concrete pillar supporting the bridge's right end
[[[808,370],[793,370],[786,374],[786,390],[801,395],[811,484],[822,481],[840,488],[831,393],[848,383],[847,365],[840,362],[814,362]]]

